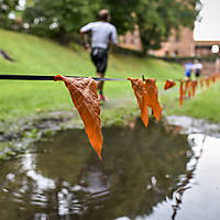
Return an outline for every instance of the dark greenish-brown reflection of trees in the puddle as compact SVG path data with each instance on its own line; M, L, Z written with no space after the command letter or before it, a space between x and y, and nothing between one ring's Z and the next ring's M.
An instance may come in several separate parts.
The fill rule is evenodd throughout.
M55 188L40 189L23 172L12 189L25 185L20 193L25 201L23 213L31 219L134 219L150 215L172 196L169 188L186 173L189 148L185 135L172 135L152 121L145 130L136 121L133 129L107 128L103 136L103 162L88 150L81 131L62 132L52 143L41 143L35 170L53 179Z

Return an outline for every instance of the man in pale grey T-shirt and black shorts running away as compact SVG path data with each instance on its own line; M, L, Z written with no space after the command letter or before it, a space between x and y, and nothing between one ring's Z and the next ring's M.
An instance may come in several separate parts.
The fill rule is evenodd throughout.
M91 33L91 61L94 62L98 77L105 77L108 48L110 44L118 44L117 29L110 24L110 13L107 9L99 11L99 21L90 22L80 29L84 47L90 51L87 34ZM103 96L103 81L98 82L99 99L106 101Z

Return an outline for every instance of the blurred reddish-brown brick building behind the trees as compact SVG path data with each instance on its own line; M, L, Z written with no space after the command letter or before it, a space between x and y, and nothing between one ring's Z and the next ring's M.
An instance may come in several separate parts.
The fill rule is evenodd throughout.
M120 46L124 48L141 51L142 44L139 33L139 26L134 28L134 32L128 32L120 36ZM213 54L211 52L212 45L219 45L220 41L194 41L194 31L188 28L182 28L178 33L173 32L167 42L162 43L162 48L157 51L150 51L152 55L156 56L209 56L220 55L220 52Z

